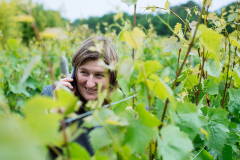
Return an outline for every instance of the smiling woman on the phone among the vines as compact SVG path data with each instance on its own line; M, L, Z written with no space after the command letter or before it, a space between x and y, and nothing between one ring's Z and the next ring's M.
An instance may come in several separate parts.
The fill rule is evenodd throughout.
M96 48L92 50L91 48ZM97 49L98 48L98 49ZM102 53L99 50L101 48ZM102 58L101 58L102 57ZM95 36L85 40L78 50L75 52L72 58L72 66L75 66L76 70L74 78L61 79L56 87L59 89L60 84L70 88L74 94L79 97L83 102L83 107L77 112L77 114L85 113L84 105L89 100L97 99L98 85L102 84L102 91L106 89L106 79L109 82L109 90L113 92L117 87L117 71L108 70L107 77L105 77L105 70L99 64L102 59L106 65L111 62L118 62L118 54L114 49L112 42L106 37ZM53 87L49 85L42 91L42 95L53 96ZM79 120L79 127L83 121ZM76 141L85 147L88 152L93 155L93 150L89 142L88 133L82 134L76 139Z

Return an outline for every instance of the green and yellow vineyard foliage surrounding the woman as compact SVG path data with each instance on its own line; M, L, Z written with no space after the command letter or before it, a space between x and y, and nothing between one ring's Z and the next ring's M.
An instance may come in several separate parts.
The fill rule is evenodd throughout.
M204 1L201 10L180 8L187 20L180 20L168 1L165 7L146 6L146 11L167 12L166 16L172 14L181 21L168 21L157 14L159 23L172 31L168 37L158 37L159 28L151 21L146 29L132 27L121 13L113 22L119 27L118 35L112 24L104 24L104 33L99 26L94 33L84 24L78 28L67 24L68 38L46 37L45 48L40 48L41 41L30 40L27 47L19 38L6 39L7 30L3 30L1 159L48 159L48 148L57 159L240 159L240 42L236 26L240 17L236 4L238 8L223 9L221 15L207 12L211 0ZM50 14L59 17L55 12L42 12L42 6L31 9L49 13L49 18ZM34 14L22 12L27 17L20 17L18 23L29 27L39 23ZM199 17L197 22L193 14ZM51 27L59 25L60 19ZM44 23L39 25L40 31L47 27ZM226 29L229 26L234 30L231 34ZM55 80L60 79L60 57L66 56L70 62L79 44L92 35L108 36L115 43L121 60L117 66L105 67L118 71L120 89L111 96L99 92L98 100L88 103L93 110L81 127L78 121L66 127L66 118L77 118L80 100L65 89L56 91L54 98L38 94L51 84L49 69ZM46 65L49 62L52 68ZM132 95L135 97L123 100ZM101 107L106 96L112 102L109 108ZM90 129L93 156L75 142L86 128Z

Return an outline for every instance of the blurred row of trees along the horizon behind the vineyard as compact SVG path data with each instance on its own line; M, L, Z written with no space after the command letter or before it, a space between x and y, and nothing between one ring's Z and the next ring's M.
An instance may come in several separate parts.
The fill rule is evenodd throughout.
M27 14L26 12L26 3L31 6L33 17L35 18L36 24L40 32L49 27L61 27L66 28L66 24L69 24L73 28L79 28L81 25L85 25L85 28L92 30L91 32L97 32L99 29L101 33L106 33L106 24L114 24L115 21L122 23L121 19L114 20L115 13L109 13L102 17L89 17L88 19L76 19L74 22L70 23L70 20L61 17L59 11L46 10L42 4L32 3L31 1L22 2L19 0L1 0L0 1L0 30L4 36L9 38L20 38L21 41L29 45L30 40L35 36L34 31L30 23L27 22L18 22L16 16ZM187 11L186 8L193 9L195 6L198 6L193 1L189 1L186 4L180 6L173 6L171 10L175 12L182 19L188 19L186 17ZM230 6L236 6L235 3L229 4L226 6L226 11L230 10ZM198 6L199 7L199 6ZM200 7L199 7L200 8ZM148 13L147 13L148 12ZM217 12L221 14L221 10ZM166 22L169 22L169 25L173 28L176 23L181 23L181 21L172 14L163 14L159 13L161 18ZM123 18L133 21L133 15L123 13ZM193 14L191 21L197 21L197 16ZM137 14L137 25L140 25L146 29L149 29L149 23L152 23L157 35L171 35L172 32L158 19L155 14L149 14L149 11L143 11L143 14ZM116 30L118 34L120 28L113 26L112 29ZM228 27L228 32L231 33L232 28Z

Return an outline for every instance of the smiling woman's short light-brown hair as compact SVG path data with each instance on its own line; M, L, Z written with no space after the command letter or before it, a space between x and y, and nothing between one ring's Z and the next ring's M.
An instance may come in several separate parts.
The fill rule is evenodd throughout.
M76 67L76 71L78 68L83 64L84 61L88 59L98 60L101 58L101 53L98 51L90 50L90 47L96 47L96 44L102 44L102 52L103 52L103 61L109 65L111 62L118 62L118 54L114 48L113 43L110 39L103 36L94 36L86 39L77 49L77 51L74 53L72 58L72 66ZM76 77L75 72L75 77ZM110 73L110 92L113 91L114 88L118 86L117 83L117 71L109 71Z

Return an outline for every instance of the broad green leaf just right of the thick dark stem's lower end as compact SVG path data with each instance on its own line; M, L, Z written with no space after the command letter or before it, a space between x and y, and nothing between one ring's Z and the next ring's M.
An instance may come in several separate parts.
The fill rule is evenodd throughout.
M176 114L173 114L174 122L180 129L194 139L200 128L207 124L205 117L199 115L198 108L192 103L177 102Z

